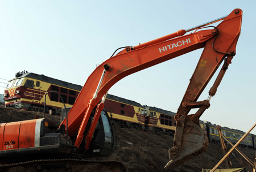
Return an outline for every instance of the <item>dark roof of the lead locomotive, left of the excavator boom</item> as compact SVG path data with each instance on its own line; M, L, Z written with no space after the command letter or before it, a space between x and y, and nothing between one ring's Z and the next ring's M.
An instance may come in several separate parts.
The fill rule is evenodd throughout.
M44 81L44 82L51 83L51 84L55 84L55 85L60 85L61 87L75 89L77 91L81 91L81 89L82 89L81 85L76 85L76 84L68 83L68 82L65 82L65 81L62 81L62 80L58 80L58 79L54 79L54 78L48 77L46 75L34 74L34 73L31 73L31 72L20 74L18 77L14 78L14 79L24 78L24 77L32 78L32 79L37 79L37 80ZM14 79L11 79L11 80L14 80Z

